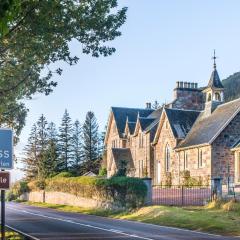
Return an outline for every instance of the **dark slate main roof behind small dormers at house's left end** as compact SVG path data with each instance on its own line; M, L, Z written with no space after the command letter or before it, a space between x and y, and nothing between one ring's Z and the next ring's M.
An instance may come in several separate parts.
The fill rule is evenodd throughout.
M153 111L153 109L144 108L112 107L119 135L124 133L127 118L129 122L136 122L138 115L139 117L147 117Z

